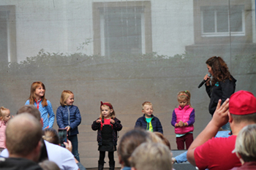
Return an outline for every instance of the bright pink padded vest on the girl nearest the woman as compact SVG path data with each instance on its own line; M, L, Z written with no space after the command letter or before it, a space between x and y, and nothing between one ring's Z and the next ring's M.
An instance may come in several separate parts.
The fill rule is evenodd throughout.
M184 123L187 123L192 111L193 108L189 107L189 105L185 106L183 109L181 107L174 109L174 112L176 113L176 123L178 123L180 120ZM175 134L187 134L190 131L194 131L193 124L175 128Z

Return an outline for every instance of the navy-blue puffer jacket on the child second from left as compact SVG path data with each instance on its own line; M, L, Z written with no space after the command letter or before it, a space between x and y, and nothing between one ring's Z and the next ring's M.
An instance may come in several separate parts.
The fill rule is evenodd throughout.
M69 136L79 134L78 125L81 123L81 115L78 107L72 106L60 106L56 112L56 119L59 128L66 128L70 126Z

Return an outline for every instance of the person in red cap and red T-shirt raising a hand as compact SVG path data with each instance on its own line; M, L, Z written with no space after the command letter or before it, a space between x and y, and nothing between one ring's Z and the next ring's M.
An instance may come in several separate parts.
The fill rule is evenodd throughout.
M189 163L198 169L232 169L241 162L232 151L235 149L236 136L246 125L256 123L256 98L249 91L240 90L217 109L206 128L192 142L187 152ZM230 123L233 135L228 138L213 138L219 128Z

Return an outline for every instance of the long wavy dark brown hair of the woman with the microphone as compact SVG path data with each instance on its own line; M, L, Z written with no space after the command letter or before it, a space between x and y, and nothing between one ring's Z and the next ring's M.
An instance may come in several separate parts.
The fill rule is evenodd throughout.
M206 61L208 66L211 66L211 70L214 73L211 80L211 85L215 85L216 82L225 82L225 80L232 80L230 72L228 71L227 64L221 57L211 57Z

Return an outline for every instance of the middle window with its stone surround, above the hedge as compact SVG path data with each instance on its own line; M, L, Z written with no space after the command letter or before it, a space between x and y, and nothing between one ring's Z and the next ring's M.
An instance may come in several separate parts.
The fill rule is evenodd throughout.
M151 53L150 1L95 2L94 54Z

